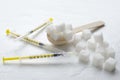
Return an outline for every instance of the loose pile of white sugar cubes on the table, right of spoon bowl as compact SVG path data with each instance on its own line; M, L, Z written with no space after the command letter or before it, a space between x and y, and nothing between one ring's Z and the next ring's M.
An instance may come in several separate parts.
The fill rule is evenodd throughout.
M88 63L106 71L114 71L116 67L115 51L103 39L102 33L92 35L90 30L84 30L73 37L73 45L79 56L79 61ZM92 53L93 54L92 54ZM92 60L90 59L92 54Z

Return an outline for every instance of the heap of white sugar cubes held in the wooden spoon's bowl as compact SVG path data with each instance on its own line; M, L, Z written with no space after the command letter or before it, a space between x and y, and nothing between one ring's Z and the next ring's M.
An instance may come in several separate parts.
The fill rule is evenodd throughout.
M66 41L70 41L73 37L72 25L65 23L47 27L47 33L55 41L59 40L60 38L64 38Z

